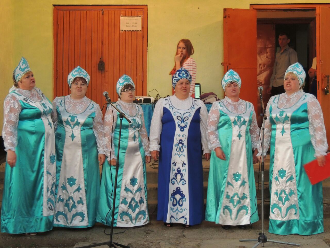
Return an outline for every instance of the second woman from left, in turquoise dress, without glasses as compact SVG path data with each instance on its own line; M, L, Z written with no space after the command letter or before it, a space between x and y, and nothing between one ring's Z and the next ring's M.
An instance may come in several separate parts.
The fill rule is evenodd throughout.
M68 75L71 94L56 97L55 227L92 227L100 189L99 165L105 161L100 106L86 95L90 77L77 66Z

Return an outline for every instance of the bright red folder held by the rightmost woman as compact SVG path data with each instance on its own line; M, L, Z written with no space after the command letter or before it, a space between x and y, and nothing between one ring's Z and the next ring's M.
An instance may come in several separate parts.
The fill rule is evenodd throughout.
M323 167L318 165L316 159L305 164L304 167L312 185L327 179L330 177L330 153L325 156L325 165Z

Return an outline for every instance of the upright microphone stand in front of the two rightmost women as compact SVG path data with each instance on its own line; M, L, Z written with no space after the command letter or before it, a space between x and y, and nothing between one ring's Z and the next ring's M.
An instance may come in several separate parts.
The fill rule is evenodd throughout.
M267 243L267 242L300 246L300 244L267 239L267 236L265 235L265 231L264 231L264 182L265 182L265 179L264 179L264 171L265 171L265 167L264 167L264 134L265 134L265 120L267 120L267 116L266 116L266 109L264 106L264 102L262 101L262 94L260 94L260 93L259 93L259 98L260 98L261 110L262 110L260 115L263 117L262 141L261 141L261 232L259 232L258 239L240 239L240 242L257 241L257 243L254 246L252 246L252 248L257 247L260 244L262 247L264 247L264 243Z

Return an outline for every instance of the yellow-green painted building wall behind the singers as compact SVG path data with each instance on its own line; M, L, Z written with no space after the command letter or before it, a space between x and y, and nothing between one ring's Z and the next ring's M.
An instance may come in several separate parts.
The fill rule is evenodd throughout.
M328 0L319 1L326 3ZM313 3L290 0L290 3ZM190 39L197 62L196 82L203 92L223 97L223 8L248 9L250 4L288 3L287 0L2 0L0 17L0 103L12 86L11 73L21 56L27 58L37 86L52 100L53 6L52 5L148 5L148 91L171 93L168 75L174 65L178 41ZM152 94L152 96L154 96ZM0 108L0 121L3 110Z

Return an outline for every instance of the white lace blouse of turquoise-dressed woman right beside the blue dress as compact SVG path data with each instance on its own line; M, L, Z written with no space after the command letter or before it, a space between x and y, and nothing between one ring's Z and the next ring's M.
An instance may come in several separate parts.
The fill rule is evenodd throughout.
M220 100L226 108L234 114L243 114L246 111L246 101L240 99L238 102L233 102L228 97L225 97L223 100ZM219 101L214 102L209 112L208 121L207 121L207 139L209 141L209 148L214 150L216 147L221 147L218 135L218 123L220 116L220 106ZM251 104L252 105L252 104ZM254 107L252 105L252 122L250 125L250 135L252 149L258 148L258 151L261 151L261 143L259 138L259 127L257 124L257 118L255 115Z

